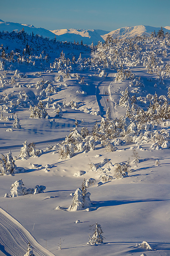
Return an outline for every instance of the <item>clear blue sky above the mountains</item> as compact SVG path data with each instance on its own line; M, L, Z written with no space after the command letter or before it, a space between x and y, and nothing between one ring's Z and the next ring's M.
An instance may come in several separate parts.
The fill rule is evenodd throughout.
M2 0L0 19L48 30L170 26L170 0Z

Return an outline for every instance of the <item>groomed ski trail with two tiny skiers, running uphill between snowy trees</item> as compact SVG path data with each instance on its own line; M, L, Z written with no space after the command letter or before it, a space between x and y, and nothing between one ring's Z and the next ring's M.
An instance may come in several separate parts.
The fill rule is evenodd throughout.
M110 91L110 85L114 81L115 73L108 73L106 78L103 79L96 89L96 100L99 106L100 115L103 117L106 114L106 110L109 107L112 119L115 119L117 108L116 104L112 100L112 94ZM105 94L105 92L107 94ZM108 99L108 102L107 102Z

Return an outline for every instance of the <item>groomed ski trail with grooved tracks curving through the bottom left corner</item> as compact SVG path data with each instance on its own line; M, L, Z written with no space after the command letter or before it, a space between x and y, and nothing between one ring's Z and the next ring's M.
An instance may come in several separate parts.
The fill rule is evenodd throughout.
M18 220L0 207L0 248L11 256L23 256L31 242L36 256L55 256L43 248Z

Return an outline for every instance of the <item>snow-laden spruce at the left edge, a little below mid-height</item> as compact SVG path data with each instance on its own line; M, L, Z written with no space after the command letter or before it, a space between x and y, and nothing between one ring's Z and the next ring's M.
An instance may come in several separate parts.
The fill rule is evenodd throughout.
M7 155L1 154L2 159L0 158L1 170L0 175L7 175L13 173L13 170L16 168L15 160L13 160L12 153L9 151Z

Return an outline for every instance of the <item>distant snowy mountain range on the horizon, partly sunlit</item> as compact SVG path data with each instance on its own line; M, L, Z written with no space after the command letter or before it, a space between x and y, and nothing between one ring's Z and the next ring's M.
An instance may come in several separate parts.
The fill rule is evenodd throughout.
M67 41L67 42L77 42L83 41L83 44L91 44L92 42L96 45L98 41L104 42L108 35L111 35L113 39L126 39L132 38L134 36L150 36L152 31L155 30L157 33L160 28L158 27L150 27L150 26L134 26L134 27L123 27L113 31L105 31L105 30L85 30L85 29L57 29L57 30L46 30L44 28L36 28L33 25L6 22L0 20L0 31L20 31L24 27L25 32L33 33L36 35L42 35L43 37L49 37L49 39L53 39L56 36L57 40ZM164 32L170 33L170 26L166 26L163 28Z

